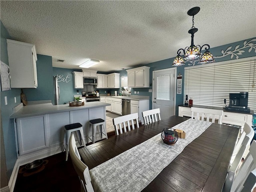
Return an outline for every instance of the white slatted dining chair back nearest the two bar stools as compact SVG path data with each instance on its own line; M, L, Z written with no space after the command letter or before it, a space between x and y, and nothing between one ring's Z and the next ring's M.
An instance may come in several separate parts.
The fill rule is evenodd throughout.
M132 130L135 129L134 126L134 120L136 121L136 126L139 128L139 121L138 121L138 113L128 114L120 117L113 118L113 125L115 127L116 135L119 135L118 130L120 131L120 134L123 134L122 126L124 128L124 132L127 132L126 124L128 131L131 130L130 123L132 125Z

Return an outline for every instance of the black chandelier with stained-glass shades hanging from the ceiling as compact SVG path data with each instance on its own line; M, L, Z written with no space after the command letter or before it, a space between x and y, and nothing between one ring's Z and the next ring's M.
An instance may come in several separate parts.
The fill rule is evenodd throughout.
M193 7L190 10L188 10L188 15L189 16L193 16L192 18L192 27L191 29L188 31L189 34L191 34L191 45L190 47L186 47L185 49L179 49L177 51L177 56L176 58L174 58L174 61L172 63L173 66L182 66L185 64L184 60L188 60L188 61L197 61L199 60L198 63L200 64L204 64L204 63L213 63L215 62L212 54L210 53L209 49L210 49L210 45L208 44L204 44L202 46L194 45L194 34L198 31L198 28L194 27L194 16L196 14L198 14L198 12L200 11L200 7ZM202 48L205 47L205 52L203 55L201 55L201 50ZM180 56L181 51L183 51L184 53L184 58L182 56Z

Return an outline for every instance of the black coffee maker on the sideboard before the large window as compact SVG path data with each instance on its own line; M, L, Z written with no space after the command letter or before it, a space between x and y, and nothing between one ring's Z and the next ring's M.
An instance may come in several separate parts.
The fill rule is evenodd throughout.
M230 93L229 106L226 106L226 110L250 113L250 108L248 108L248 92Z

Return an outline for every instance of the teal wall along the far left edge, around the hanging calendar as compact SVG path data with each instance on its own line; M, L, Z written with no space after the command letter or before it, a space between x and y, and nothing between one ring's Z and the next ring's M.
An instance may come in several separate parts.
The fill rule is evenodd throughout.
M7 43L6 39L12 39L8 34L6 28L0 22L1 28L1 43L0 43L0 60L5 64L9 65L8 62L8 53L7 53ZM5 105L4 97L7 96L8 104ZM14 103L14 97L16 97L17 103ZM12 88L11 90L2 91L1 90L1 121L4 136L4 148L5 148L5 157L6 157L6 172L8 180L12 174L14 164L17 160L16 155L16 144L15 144L15 134L14 134L14 122L13 119L10 119L12 114L12 108L14 108L18 103L20 103L20 89Z

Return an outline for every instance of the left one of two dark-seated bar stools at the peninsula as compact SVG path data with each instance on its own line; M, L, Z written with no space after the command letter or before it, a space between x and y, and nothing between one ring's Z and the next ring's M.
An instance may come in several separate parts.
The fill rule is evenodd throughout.
M83 126L80 123L73 123L69 125L65 125L65 133L64 133L64 148L66 149L66 161L68 160L68 143L70 139L70 135L74 131L79 131L80 132L80 144L82 146L82 140L83 144L85 146L85 140L84 140L84 131L83 131ZM82 140L81 140L82 139Z

